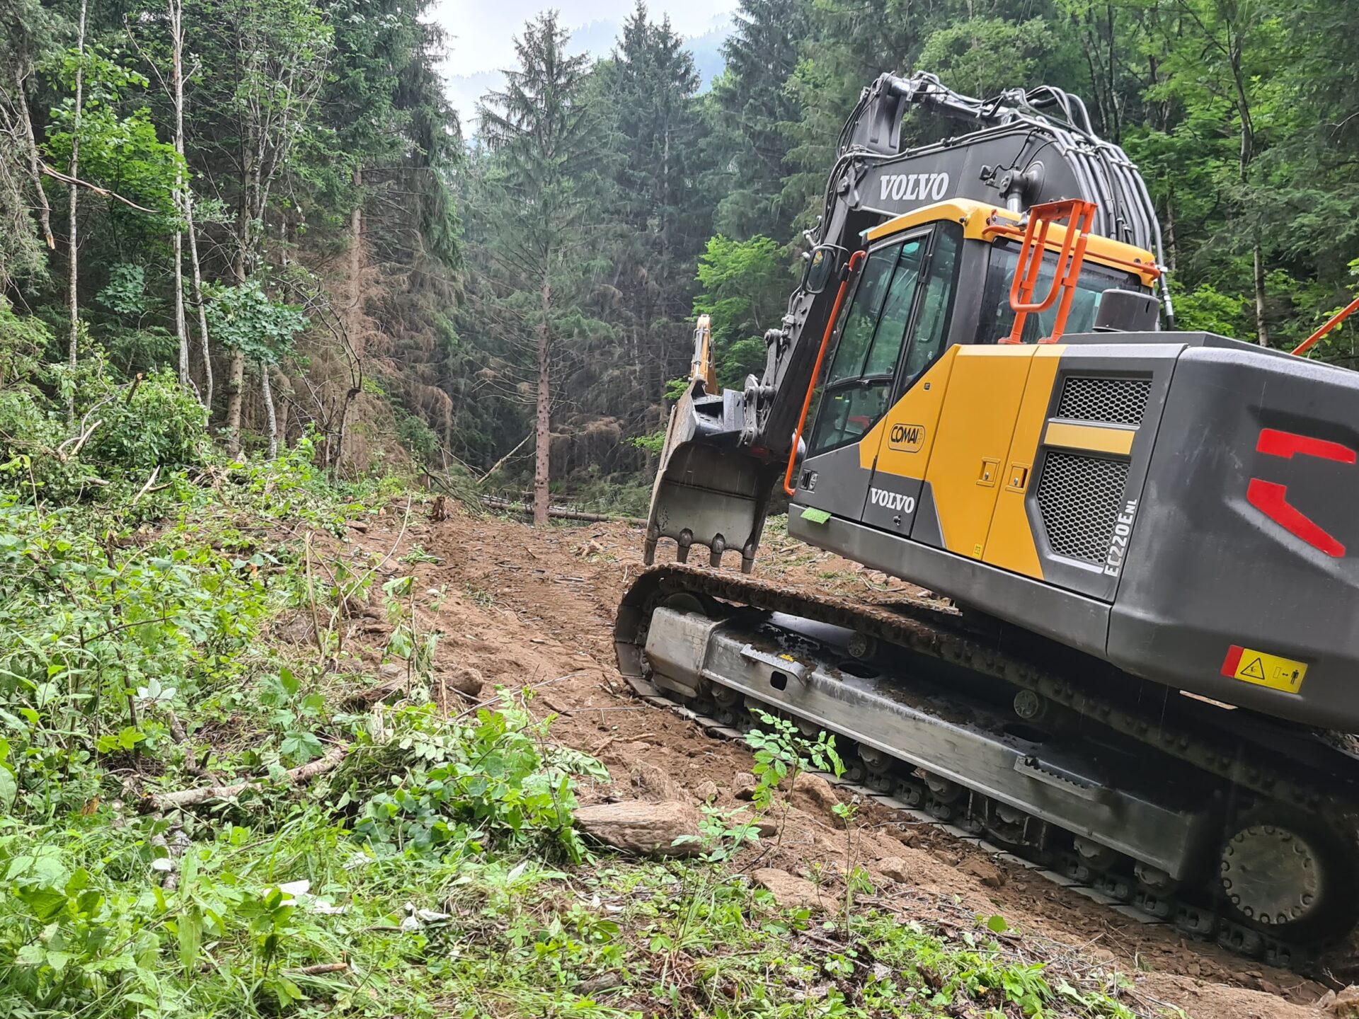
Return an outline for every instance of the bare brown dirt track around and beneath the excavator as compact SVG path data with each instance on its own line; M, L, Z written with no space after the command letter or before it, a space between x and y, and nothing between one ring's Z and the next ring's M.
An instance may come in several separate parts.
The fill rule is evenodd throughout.
M493 685L534 687L531 709L560 716L552 730L556 739L594 754L613 777L612 785L587 784L583 803L636 795L632 773L651 764L685 792L712 783L719 804L738 806L731 785L734 776L749 772L749 750L641 702L614 667L613 611L641 569L640 530L621 523L534 530L458 511L431 522L427 512L420 504L393 505L355 522L352 543L336 543L329 553L383 557L385 576L414 572L421 626L440 633L436 677L443 677L444 689L436 696L450 707L466 704L447 683L465 682L467 670L476 670L472 678L482 678L488 693ZM423 558L410 554L416 546L438 561L402 562ZM730 560L734 564L735 556ZM779 534L769 535L756 572L840 594L900 584ZM385 624L370 613L356 625L371 636ZM856 830L847 833L824 806L798 799L781 836L747 853L738 867L815 874L822 883L852 861L872 874L877 905L927 923L957 923L959 905L999 913L1021 931L1117 962L1137 974L1139 997L1178 1005L1195 1019L1326 1015L1313 1005L1326 990L1317 981L1242 961L1169 925L1125 918L938 829L902 823L874 803L862 806ZM886 876L883 861L896 879Z

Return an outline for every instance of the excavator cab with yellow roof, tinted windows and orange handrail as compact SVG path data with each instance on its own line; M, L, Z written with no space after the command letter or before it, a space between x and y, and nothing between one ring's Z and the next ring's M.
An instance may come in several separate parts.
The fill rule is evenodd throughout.
M881 516L872 512L878 504L866 505L874 474L868 465L881 442L874 436L864 446L864 437L908 393L913 404L942 397L946 376L924 376L953 346L1051 342L1064 330L1154 329L1152 255L1086 236L1083 257L1072 266L1070 253L1064 260L1065 234L1059 227L1042 245L1030 238L1034 250L1026 258L1018 216L965 200L939 202L866 231L867 257L855 279L847 280L844 311L828 337L828 367L813 379L813 425L799 433L800 469L790 473L798 482L787 486L787 495L837 516ZM1033 269L1030 289L1052 298L1034 312L1017 311L1011 298L1025 266ZM1070 293L1059 293L1063 269L1070 269ZM1108 304L1106 293L1114 295ZM934 428L924 418L896 421L893 429L890 450L928 458ZM901 511L909 516L906 507L919 495L912 489L879 496L892 510L887 519L898 520L894 529L901 530Z

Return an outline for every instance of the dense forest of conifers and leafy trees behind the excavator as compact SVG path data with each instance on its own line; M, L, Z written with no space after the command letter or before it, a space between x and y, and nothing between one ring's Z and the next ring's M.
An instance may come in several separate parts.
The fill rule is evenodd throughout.
M169 371L231 450L314 431L340 473L504 459L522 489L550 431L540 478L635 501L693 315L724 382L762 363L839 128L882 71L1083 95L1151 186L1181 326L1290 346L1354 285L1344 0L743 0L701 94L644 5L597 61L549 12L462 125L429 18L4 0L4 385L20 356L33 383L0 420L11 455L68 437L94 375ZM1317 356L1348 363L1348 334Z

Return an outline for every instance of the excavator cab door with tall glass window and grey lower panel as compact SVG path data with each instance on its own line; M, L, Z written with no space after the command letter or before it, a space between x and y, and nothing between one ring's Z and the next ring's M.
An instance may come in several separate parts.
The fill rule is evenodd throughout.
M874 425L896 391L932 236L927 227L893 239L870 251L859 273L818 387L815 425L799 471L802 505L851 520L863 515L877 452Z

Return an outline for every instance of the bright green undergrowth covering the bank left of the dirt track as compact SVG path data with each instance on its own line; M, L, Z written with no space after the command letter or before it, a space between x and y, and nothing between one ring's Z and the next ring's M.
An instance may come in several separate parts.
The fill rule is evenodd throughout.
M739 872L573 826L607 781L529 711L431 696L419 546L345 541L400 481L302 442L231 462L170 378L0 382L0 1015L1127 1015L999 917L925 927L848 894L780 909ZM67 399L73 401L68 410ZM381 648L344 621L386 617ZM378 664L374 664L378 663ZM381 667L391 696L355 697ZM771 720L773 721L773 720ZM754 739L762 795L833 745ZM847 825L852 818L845 815ZM756 846L758 849L758 846Z

